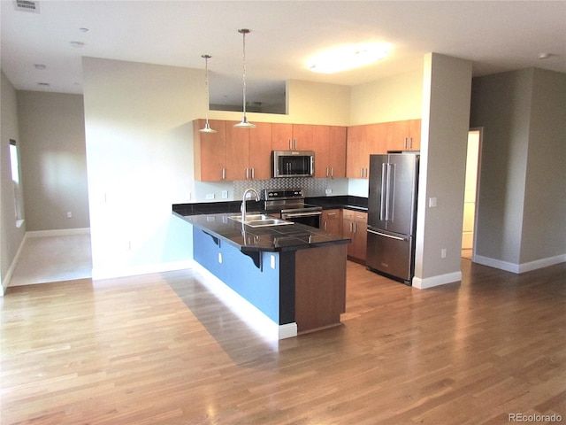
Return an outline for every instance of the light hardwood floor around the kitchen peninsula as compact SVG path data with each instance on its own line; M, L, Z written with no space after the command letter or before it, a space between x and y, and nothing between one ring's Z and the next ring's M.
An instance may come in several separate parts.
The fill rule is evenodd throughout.
M9 288L0 423L566 421L566 264L516 275L463 259L462 283L417 290L348 262L343 326L279 344L200 279Z

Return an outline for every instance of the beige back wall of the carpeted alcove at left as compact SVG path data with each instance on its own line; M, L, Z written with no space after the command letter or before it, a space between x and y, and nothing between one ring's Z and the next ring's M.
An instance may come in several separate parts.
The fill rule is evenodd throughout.
M27 231L88 228L82 96L19 91L18 114Z

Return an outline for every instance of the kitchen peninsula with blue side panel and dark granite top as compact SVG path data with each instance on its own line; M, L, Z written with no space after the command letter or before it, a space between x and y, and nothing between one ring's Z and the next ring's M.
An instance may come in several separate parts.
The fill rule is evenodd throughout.
M350 239L299 223L252 227L234 213L183 215L194 259L279 326L279 339L340 324Z

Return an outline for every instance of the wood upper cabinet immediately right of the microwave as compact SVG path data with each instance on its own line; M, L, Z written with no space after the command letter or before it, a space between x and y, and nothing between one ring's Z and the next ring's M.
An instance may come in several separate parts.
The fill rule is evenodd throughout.
M346 128L312 127L315 177L321 179L346 177Z

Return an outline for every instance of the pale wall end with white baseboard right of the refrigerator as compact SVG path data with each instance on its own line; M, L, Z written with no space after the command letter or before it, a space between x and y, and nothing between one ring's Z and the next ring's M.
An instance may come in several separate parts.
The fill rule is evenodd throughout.
M462 279L464 174L470 120L471 62L424 58L421 166L417 205L417 288ZM428 207L435 197L437 206ZM441 258L441 250L446 258Z

